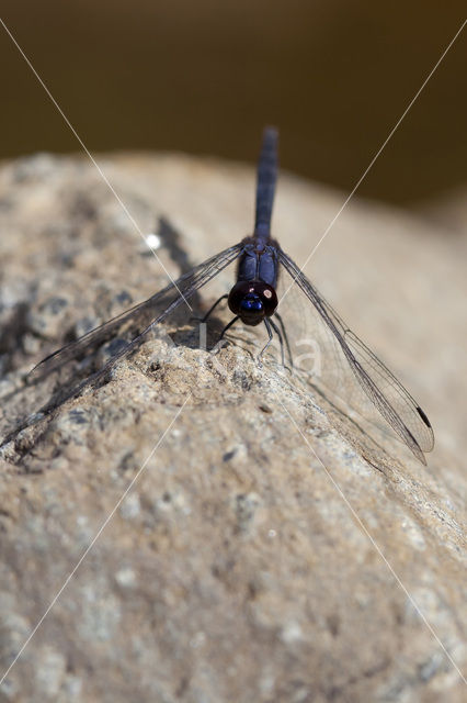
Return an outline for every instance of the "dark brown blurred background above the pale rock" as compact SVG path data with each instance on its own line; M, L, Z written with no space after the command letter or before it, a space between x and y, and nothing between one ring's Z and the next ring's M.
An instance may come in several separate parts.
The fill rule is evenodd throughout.
M3 0L2 19L87 146L282 165L350 190L466 15L453 0ZM360 188L413 204L465 182L467 30ZM79 148L0 27L0 157Z

